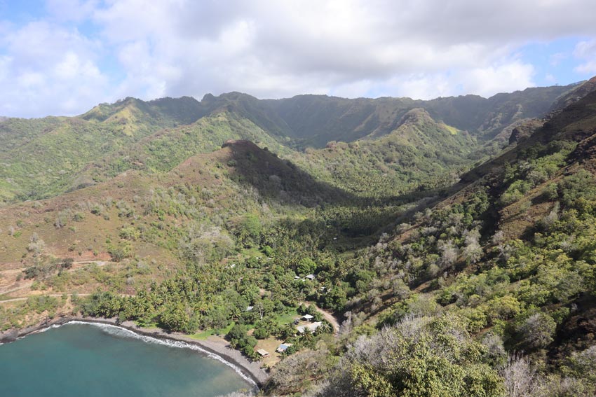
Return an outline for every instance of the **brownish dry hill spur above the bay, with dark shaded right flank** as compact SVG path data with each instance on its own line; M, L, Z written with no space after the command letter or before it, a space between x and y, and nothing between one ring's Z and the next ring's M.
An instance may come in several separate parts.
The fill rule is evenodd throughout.
M271 222L282 214L349 199L250 141L228 141L163 174L133 170L49 200L0 209L6 237L0 244L0 272L11 274L0 277L0 295L32 293L31 282L11 272L23 268L39 273L33 293L40 286L55 293L86 293L108 284L118 293L134 293L148 280L184 268L182 242L199 230L228 253L236 222L246 214L268 214ZM208 260L209 252L196 255ZM81 267L76 278L57 274L55 264L65 258L113 262L104 274L112 281L94 278L95 267ZM142 270L131 270L130 263L142 263Z

